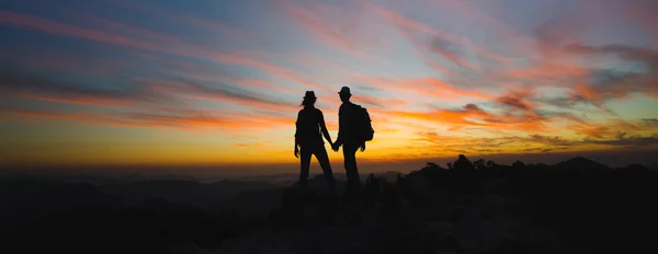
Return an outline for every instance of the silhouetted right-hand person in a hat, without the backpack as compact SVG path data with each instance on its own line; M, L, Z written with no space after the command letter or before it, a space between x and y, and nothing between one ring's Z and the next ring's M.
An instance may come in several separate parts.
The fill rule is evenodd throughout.
M343 147L343 159L348 176L348 197L353 197L361 190L361 180L356 168L356 150L361 148L361 151L364 151L365 141L356 138L355 113L359 105L350 102L352 97L350 88L343 86L338 94L342 104L338 111L338 138L331 148L333 151L338 151L340 146Z

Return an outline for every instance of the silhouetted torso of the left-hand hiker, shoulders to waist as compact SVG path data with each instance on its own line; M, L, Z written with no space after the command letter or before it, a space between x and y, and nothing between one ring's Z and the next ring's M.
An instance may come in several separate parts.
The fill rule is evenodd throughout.
M315 107L304 107L297 115L296 138L300 145L325 143L320 132L322 112Z

